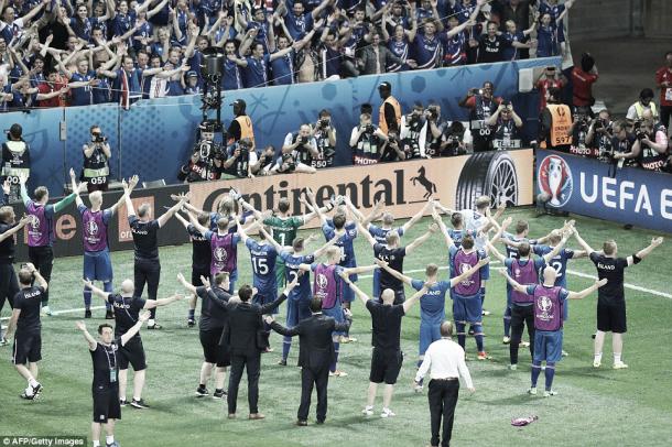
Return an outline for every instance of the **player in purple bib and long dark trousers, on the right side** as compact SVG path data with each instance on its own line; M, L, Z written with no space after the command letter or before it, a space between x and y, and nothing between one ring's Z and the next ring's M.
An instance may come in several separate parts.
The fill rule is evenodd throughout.
M490 249L490 253L505 264L509 274L519 284L539 284L540 272L543 272L543 269L549 264L551 259L560 253L572 233L572 228L571 226L567 228L565 236L552 251L540 258L532 258L532 249L529 242L520 243L518 247L518 258L505 257L490 242L487 243L487 247ZM535 308L534 301L530 295L513 288L507 292L507 295L510 292L510 296L507 296L507 304L511 303L511 342L509 344L509 358L511 362L509 369L516 370L518 369L518 349L525 325L528 326L528 335L530 337L530 356L534 358Z

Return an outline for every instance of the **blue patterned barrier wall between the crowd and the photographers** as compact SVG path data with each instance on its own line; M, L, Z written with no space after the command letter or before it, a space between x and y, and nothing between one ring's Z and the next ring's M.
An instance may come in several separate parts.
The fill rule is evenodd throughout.
M513 101L525 123L523 133L531 140L536 138L539 96L535 90L519 92L519 72L559 64L557 57L540 58L226 91L223 120L228 124L232 118L228 105L243 99L254 124L257 146L273 144L279 150L286 133L299 130L303 122L315 122L319 110L328 109L337 131L335 164L343 166L350 164L348 140L359 122L359 107L371 103L373 122L378 122L381 81L392 84L392 94L407 112L415 101L425 106L433 101L441 106L444 119L466 121L467 110L457 102L469 88L491 80L497 96ZM164 178L167 184L175 184L180 165L188 159L196 139L200 107L199 96L180 96L142 100L130 110L110 103L2 113L2 123L3 129L20 123L31 144L33 170L29 187L43 185L59 195L68 182L68 170L82 168L82 145L90 140L91 124L99 124L108 137L112 177L138 174L143 182Z

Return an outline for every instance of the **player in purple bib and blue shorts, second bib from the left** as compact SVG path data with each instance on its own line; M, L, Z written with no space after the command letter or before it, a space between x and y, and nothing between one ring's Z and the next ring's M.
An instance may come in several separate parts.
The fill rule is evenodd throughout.
M110 219L117 212L117 208L126 203L127 194L131 194L138 184L138 177L132 177L129 181L128 188L124 189L119 200L107 209L102 207L102 193L95 190L88 195L91 204L90 208L84 205L84 200L79 197L79 187L75 178L72 179L72 190L75 192L75 203L77 210L82 215L82 238L84 240L84 272L83 280L101 281L102 290L107 293L112 292L112 261L110 260L110 251L107 241L107 227ZM84 318L91 317L91 291L84 287ZM106 304L106 319L115 318L112 306Z

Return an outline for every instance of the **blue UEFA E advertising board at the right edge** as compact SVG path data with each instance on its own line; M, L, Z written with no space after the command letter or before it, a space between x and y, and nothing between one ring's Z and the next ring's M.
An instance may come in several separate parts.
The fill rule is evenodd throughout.
M554 151L536 151L536 192L548 206L578 215L672 232L672 176L610 165Z

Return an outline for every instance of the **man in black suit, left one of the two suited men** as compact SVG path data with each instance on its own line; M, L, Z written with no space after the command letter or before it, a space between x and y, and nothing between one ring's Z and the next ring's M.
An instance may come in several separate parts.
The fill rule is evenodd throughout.
M223 345L229 347L231 358L231 374L229 375L228 391L229 419L236 417L238 385L242 378L242 370L246 367L248 371L248 402L250 404L249 418L263 419L265 417L259 413L257 406L259 401L261 351L268 346L268 342L260 340L265 334L261 315L272 312L277 306L282 304L296 284L297 280L288 284L278 299L264 306L251 302L254 291L246 284L238 290L238 298L232 297L227 303L226 309L229 315L229 324L221 337ZM209 284L204 283L204 285L209 288Z

